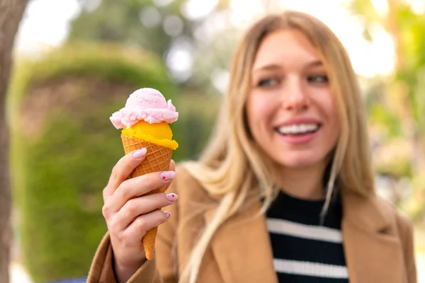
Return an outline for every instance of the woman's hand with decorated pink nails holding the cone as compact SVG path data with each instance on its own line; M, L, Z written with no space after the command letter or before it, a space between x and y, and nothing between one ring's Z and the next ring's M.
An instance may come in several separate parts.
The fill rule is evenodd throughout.
M170 163L170 171L128 179L145 155L146 149L140 149L123 156L114 166L108 185L103 190L102 213L111 236L115 276L120 283L128 281L145 262L143 236L169 219L169 212L161 209L177 199L176 194L143 196L171 183L175 175L174 161Z

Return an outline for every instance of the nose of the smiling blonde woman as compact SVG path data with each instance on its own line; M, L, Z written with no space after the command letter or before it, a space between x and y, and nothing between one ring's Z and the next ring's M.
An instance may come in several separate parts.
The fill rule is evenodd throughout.
M310 98L302 87L302 82L297 77L290 77L285 83L283 94L283 108L292 111L307 110Z

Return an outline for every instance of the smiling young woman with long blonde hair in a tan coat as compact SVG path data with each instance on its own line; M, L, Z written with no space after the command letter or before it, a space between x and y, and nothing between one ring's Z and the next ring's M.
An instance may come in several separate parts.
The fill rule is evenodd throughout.
M412 225L375 194L356 75L312 16L246 32L199 161L127 180L144 154L113 168L88 282L416 282Z

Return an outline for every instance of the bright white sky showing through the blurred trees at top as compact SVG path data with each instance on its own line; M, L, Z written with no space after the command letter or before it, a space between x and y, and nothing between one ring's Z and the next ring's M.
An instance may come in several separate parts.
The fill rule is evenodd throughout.
M170 0L154 0L155 4L167 4ZM421 2L422 0L414 0ZM214 4L217 0L208 0ZM253 16L262 13L261 3L273 3L276 8L290 8L311 13L334 30L348 50L356 72L362 76L386 74L394 64L394 47L391 38L383 30L375 30L373 45L365 42L358 23L341 6L346 0L232 0L233 22L244 28ZM376 7L385 11L386 0L373 0ZM418 4L419 5L419 4ZM196 18L208 13L205 0L189 0L186 16ZM16 51L38 54L40 50L60 46L67 37L69 21L80 11L77 0L33 0L28 4L26 15L16 38Z

